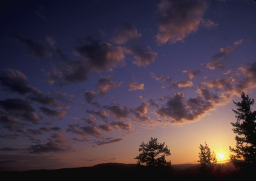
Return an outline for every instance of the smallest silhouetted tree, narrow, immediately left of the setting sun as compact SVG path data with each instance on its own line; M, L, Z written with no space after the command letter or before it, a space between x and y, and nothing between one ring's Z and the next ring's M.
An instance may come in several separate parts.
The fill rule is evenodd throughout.
M217 164L216 156L214 151L211 152L209 145L206 144L203 146L200 144L200 153L199 153L199 165L201 166L200 169L204 173L211 173L214 170L215 165Z

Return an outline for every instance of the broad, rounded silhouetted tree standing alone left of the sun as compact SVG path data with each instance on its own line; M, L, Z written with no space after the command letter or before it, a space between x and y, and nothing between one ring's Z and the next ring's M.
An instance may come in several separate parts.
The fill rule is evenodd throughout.
M165 142L163 144L157 142L157 138L150 138L147 144L142 142L139 147L141 152L139 156L134 157L137 159L137 164L145 163L147 166L169 166L171 167L171 161L166 162L165 156L171 155L170 150L167 145L165 147Z

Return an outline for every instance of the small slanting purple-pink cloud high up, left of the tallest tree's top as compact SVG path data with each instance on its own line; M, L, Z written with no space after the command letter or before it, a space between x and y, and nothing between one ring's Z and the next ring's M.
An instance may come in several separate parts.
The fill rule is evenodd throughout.
M209 69L223 69L226 66L226 63L221 60L224 59L231 51L234 50L233 46L225 46L220 48L220 52L212 56L212 60L208 63L202 63L202 66L205 66Z

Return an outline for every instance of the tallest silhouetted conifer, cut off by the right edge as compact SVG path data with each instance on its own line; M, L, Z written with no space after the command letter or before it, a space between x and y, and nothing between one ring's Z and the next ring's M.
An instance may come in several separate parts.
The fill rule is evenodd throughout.
M242 101L235 103L237 110L232 109L235 113L236 122L231 122L234 127L233 132L237 134L235 148L229 147L234 153L230 155L232 163L235 167L251 167L256 165L256 111L252 112L251 106L254 105L254 99L241 93ZM241 162L240 159L244 161Z

